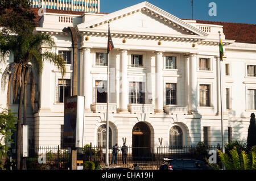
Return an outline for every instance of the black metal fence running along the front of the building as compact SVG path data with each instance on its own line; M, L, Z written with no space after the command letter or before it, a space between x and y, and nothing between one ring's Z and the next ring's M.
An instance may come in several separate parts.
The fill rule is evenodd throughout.
M127 155L122 154L121 146L118 147L118 153L115 160L112 149L109 149L109 165L124 166L133 169L135 163L142 170L159 169L163 163L163 158L193 158L205 161L209 158L209 151L220 147L213 146L181 146L175 148L172 146L160 146L157 148L134 148L127 146ZM68 170L71 168L71 149L61 149L60 146L55 147L38 147L31 148L26 158L26 166L28 170ZM113 158L114 157L114 158ZM95 169L105 166L106 149L86 145L82 149L77 149L77 161L93 162ZM113 160L113 162L112 162ZM6 167L10 169L10 167ZM14 169L14 167L13 167Z

